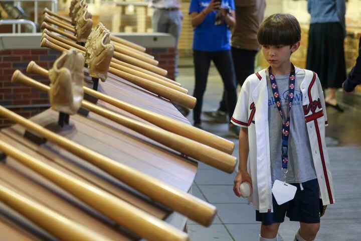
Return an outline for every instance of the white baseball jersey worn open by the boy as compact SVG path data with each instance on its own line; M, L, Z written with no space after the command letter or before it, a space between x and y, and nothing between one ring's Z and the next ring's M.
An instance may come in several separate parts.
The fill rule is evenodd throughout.
M298 71L300 69L295 67L296 78ZM273 210L266 74L268 70L263 69L246 79L231 118L233 124L248 128L248 173L253 187L248 202L260 212ZM318 76L310 70L305 70L305 74L300 84L303 111L320 198L323 205L327 205L334 203L335 199L325 142L326 107Z

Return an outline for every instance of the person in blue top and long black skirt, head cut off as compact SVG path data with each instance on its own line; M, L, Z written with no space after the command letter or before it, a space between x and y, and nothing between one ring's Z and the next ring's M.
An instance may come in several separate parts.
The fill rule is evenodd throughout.
M326 106L343 112L337 104L336 89L346 78L343 49L345 37L345 0L308 0L311 15L306 69L318 74L327 88Z

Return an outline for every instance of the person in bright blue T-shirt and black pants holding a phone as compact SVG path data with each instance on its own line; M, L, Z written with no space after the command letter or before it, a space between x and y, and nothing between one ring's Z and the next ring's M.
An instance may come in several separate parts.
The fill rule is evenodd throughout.
M233 0L192 0L190 4L189 14L195 28L192 48L196 83L193 96L197 98L193 119L194 126L198 128L202 128L203 95L211 61L222 77L230 118L236 106L236 77L230 51L229 30L235 25L234 9ZM229 125L230 133L238 138L238 127Z

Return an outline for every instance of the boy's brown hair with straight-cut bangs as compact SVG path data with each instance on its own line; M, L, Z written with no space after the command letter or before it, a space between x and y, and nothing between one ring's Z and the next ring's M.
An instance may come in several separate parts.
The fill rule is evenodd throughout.
M260 45L289 45L301 40L301 27L291 14L274 14L261 24L257 33Z

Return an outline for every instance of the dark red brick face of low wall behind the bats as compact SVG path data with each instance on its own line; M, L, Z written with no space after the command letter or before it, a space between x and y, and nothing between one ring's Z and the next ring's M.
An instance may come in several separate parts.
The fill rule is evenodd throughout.
M168 78L174 79L174 48L149 48L147 53L159 61L159 67L168 71ZM48 94L23 84L11 82L15 70L19 69L29 77L49 85L49 80L39 75L27 74L31 60L43 68L50 69L60 52L46 48L0 50L0 105L24 116L31 117L49 108ZM0 116L0 128L13 123Z

